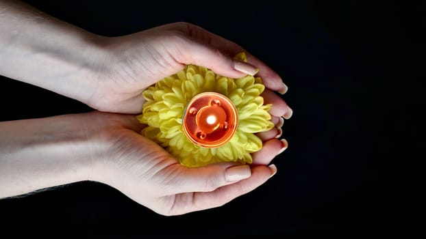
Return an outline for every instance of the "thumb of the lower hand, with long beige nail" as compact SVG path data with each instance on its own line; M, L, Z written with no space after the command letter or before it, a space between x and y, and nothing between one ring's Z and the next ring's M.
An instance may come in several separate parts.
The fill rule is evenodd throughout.
M210 192L216 188L250 178L249 165L219 163L198 168L182 166L179 193Z

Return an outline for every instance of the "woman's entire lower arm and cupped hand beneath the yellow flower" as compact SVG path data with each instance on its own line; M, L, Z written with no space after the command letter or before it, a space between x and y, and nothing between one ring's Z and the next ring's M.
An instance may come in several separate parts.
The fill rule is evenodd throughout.
M134 115L80 113L0 122L0 197L93 180L108 184L164 215L221 206L264 184L276 143L253 155L253 165L180 165L140 135ZM266 139L266 138L265 138Z

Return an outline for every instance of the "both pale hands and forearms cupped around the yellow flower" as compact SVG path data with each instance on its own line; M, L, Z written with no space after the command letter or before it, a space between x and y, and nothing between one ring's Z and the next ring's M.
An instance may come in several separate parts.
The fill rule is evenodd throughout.
M231 56L245 51L247 64ZM186 64L238 78L262 77L277 127L259 133L252 165L187 168L139 132L141 92ZM292 110L279 75L248 51L190 23L129 36L97 36L18 1L0 2L0 74L74 98L96 111L0 122L0 197L92 180L163 215L223 205L264 184ZM268 166L269 165L269 166Z

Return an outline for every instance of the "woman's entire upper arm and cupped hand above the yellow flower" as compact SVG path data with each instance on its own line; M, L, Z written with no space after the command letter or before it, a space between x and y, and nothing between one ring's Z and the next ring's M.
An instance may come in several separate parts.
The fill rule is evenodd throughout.
M232 60L247 54L247 64ZM171 23L105 37L55 19L18 1L0 2L0 74L74 98L99 111L140 113L142 91L186 64L223 76L262 77L270 113L292 110L275 92L286 85L238 44L190 23Z

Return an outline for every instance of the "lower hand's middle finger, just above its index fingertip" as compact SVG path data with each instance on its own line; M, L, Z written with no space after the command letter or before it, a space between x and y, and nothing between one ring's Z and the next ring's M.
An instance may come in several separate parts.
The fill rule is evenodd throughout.
M268 165L273 158L288 147L286 139L271 139L263 143L262 149L251 154L254 165Z

